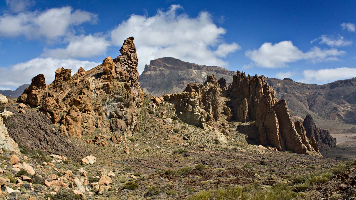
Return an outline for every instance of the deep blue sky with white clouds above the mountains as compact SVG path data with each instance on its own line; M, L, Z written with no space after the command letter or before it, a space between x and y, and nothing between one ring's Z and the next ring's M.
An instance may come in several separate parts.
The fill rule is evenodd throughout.
M356 77L356 1L0 1L0 90L90 69L135 37L151 59L324 84Z

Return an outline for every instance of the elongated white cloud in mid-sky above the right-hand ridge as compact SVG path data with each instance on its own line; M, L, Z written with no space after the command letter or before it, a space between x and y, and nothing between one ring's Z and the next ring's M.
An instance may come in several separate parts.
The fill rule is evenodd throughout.
M300 51L291 41L282 41L272 44L265 42L258 49L247 50L245 55L253 62L265 68L285 67L287 63L298 60L309 60L313 63L330 60L339 60L338 56L345 54L345 51L337 49L320 49L313 47L308 52Z

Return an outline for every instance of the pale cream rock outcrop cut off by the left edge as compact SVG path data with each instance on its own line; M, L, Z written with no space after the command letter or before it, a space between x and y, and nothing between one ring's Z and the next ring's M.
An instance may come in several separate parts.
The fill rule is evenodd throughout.
M20 153L18 145L9 136L4 122L12 116L12 112L6 111L7 98L0 94L0 149Z

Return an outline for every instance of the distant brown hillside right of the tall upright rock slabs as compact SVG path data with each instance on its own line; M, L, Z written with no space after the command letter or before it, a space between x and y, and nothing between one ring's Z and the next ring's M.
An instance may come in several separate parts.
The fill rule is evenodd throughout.
M356 123L356 78L324 85L297 83L291 79L267 79L278 98L286 99L294 116L312 114L325 119Z

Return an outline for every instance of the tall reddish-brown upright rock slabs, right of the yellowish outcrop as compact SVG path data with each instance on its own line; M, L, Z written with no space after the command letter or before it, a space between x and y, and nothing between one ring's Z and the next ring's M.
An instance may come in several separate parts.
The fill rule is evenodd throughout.
M237 71L227 91L231 99L228 105L232 119L241 122L255 120L262 145L302 154L317 151L309 144L302 127L298 127L300 132L296 130L286 101L278 101L266 77L255 75L251 78Z

